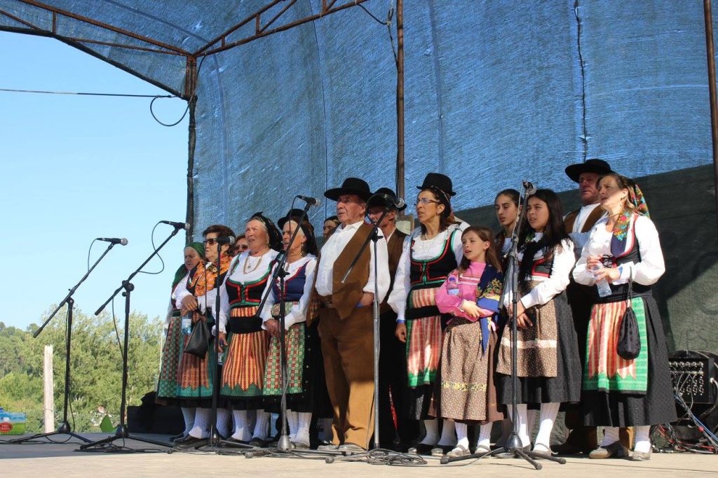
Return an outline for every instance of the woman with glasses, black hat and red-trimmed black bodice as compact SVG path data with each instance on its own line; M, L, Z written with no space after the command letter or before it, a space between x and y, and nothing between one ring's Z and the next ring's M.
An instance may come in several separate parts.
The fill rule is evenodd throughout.
M452 181L429 173L419 188L416 216L421 225L404 241L388 304L396 312L396 337L406 343L410 418L424 421L426 435L416 446L420 454L444 454L457 444L454 421L439 423L429 410L442 355L442 330L452 317L442 315L435 296L463 257L461 234L469 225L454 219ZM437 447L438 445L438 447Z

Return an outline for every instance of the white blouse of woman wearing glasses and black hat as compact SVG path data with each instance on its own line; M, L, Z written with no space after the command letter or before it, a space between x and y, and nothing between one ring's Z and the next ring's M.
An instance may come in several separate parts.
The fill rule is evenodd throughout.
M411 290L411 257L414 259L426 260L437 257L444 249L444 242L448 239L449 235L457 229L464 231L469 224L462 222L460 224L452 224L445 231L439 232L432 239L421 239L421 227L417 227L414 231L404 238L404 249L401 252L401 258L396 266L396 274L394 275L394 287L389 294L387 303L396 312L396 320L405 320L404 312L406 311L406 299L409 297L409 290ZM411 241L414 241L414 246L411 247ZM461 232L454 234L452 243L449 244L452 251L454 251L454 257L456 257L456 263L461 262L464 257L464 246L461 243ZM411 251L409 250L411 249ZM413 251L413 254L412 254Z

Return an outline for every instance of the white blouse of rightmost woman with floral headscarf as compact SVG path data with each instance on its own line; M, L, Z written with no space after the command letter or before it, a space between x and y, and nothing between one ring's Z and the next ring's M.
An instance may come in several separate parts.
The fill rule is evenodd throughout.
M591 236L584 246L581 258L574 269L574 280L579 284L596 284L593 273L586 267L589 256L612 255L611 238L613 237L613 231L606 230L607 222L608 218L602 218L591 229ZM635 227L640 262L623 264L620 277L611 283L615 285L625 284L628 282L629 277L633 277L633 280L640 285L653 285L658 282L663 272L666 272L666 264L663 262L663 252L661 251L661 242L658 240L656 225L645 216L633 216L629 227Z

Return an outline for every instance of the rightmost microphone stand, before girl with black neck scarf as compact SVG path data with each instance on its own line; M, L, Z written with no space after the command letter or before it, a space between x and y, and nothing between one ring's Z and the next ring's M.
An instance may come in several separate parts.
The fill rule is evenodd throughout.
M524 183L526 184L526 183ZM547 459L551 462L556 462L560 464L566 464L566 459L559 458L559 457L546 457L543 454L536 454L533 451L524 450L523 446L521 445L521 439L518 437L518 409L516 408L516 386L518 386L518 372L516 370L516 360L517 360L517 330L516 330L516 306L518 305L518 231L521 230L521 224L523 224L523 216L525 213L523 211L526 211L526 202L528 201L528 194L526 193L526 187L523 188L523 194L521 195L521 214L518 215L516 226L513 228L513 233L511 234L511 247L508 252L508 275L510 276L510 283L511 283L511 303L513 304L512 310L511 310L511 433L508 436L508 439L506 440L506 443L503 447L497 448L492 451L488 451L485 453L473 453L473 454L466 454L462 457L442 457L441 463L447 464L452 462L460 462L461 460L467 460L467 459L475 459L475 458L485 458L485 457L493 457L493 456L500 456L501 458L523 458L527 462L531 463L535 469L541 469L543 466L536 462L536 459ZM504 283L504 290L501 292L501 304L503 305L503 298L505 295L505 283Z

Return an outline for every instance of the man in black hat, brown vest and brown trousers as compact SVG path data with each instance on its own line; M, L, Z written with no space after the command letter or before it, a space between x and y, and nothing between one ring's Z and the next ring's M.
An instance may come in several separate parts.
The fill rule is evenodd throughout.
M334 411L330 447L363 451L368 448L374 428L371 305L375 283L380 302L389 288L388 253L380 229L377 257L373 244L369 244L342 283L342 277L372 231L372 226L364 222L371 191L365 181L347 178L342 187L330 189L324 195L337 201L337 217L341 222L322 247L315 286L321 302L319 333L327 391Z

